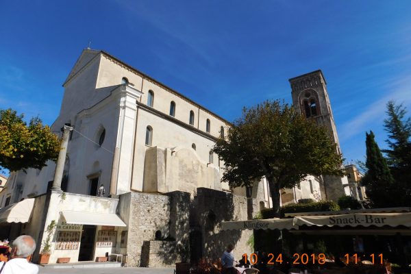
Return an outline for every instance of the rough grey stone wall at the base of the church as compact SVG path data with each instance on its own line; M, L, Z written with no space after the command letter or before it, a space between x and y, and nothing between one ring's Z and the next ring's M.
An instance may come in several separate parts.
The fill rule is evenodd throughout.
M132 192L129 201L129 266L164 267L217 259L229 244L234 245L238 259L253 251L247 244L253 231L221 231L221 222L247 220L247 203L256 213L257 199L247 201L232 193L197 188L193 198L181 191L165 195ZM160 238L156 238L158 231Z

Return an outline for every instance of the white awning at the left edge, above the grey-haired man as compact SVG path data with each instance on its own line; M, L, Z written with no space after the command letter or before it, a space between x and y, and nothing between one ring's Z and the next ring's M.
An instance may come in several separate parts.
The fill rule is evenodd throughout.
M30 198L1 208L0 223L27 223L32 215L33 206L34 198Z

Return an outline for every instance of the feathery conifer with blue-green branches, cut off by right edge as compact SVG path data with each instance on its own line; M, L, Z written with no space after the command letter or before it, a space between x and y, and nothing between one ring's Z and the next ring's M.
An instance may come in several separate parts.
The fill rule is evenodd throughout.
M406 108L395 105L394 101L387 103L384 127L388 132L386 140L390 149L383 150L388 157L388 165L395 182L403 189L403 199L411 203L411 118L405 118Z

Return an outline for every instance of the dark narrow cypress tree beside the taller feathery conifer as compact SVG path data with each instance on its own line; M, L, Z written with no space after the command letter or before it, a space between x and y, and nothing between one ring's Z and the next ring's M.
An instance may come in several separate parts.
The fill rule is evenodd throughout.
M377 142L375 142L373 132L366 133L365 144L367 172L362 178L362 184L366 186L366 195L371 200L373 207L397 206L398 188L388 164L382 156Z

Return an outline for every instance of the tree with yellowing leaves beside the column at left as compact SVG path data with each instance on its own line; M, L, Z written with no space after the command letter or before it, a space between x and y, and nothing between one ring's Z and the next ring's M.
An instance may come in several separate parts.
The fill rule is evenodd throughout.
M60 151L60 140L47 125L38 117L27 125L23 118L12 109L0 110L0 166L10 171L41 169Z

